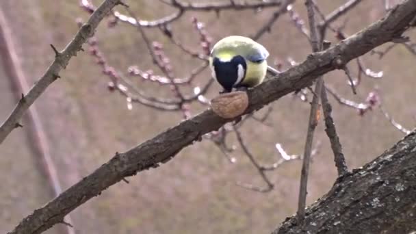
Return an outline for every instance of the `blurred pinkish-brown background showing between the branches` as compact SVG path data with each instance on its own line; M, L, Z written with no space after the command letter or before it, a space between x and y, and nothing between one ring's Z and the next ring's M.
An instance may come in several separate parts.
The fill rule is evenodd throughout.
M94 1L96 4L99 2ZM157 18L172 11L157 1L127 2L144 19ZM323 12L328 13L343 2L321 0L319 4ZM36 81L53 60L49 44L62 49L77 31L75 19L88 18L79 8L78 1L2 0L0 8L12 27L14 44L29 83ZM306 19L303 1L298 1L295 8ZM183 42L196 44L198 36L192 29L190 17L198 16L206 23L214 41L230 34L248 36L271 12L272 9L258 14L252 10L221 12L219 20L214 12L189 12L174 24L174 33ZM364 1L350 12L345 31L353 34L383 14L381 1ZM153 38L168 43L166 38L152 30L151 34ZM141 68L151 67L151 59L143 56L146 47L131 27L121 25L107 29L103 22L97 35L101 49L116 68L125 70L132 64ZM311 51L288 16L279 19L272 33L266 34L260 42L269 49L272 59L293 57L302 61ZM179 76L186 75L198 64L178 49L168 47ZM408 128L415 127L415 57L403 47L396 47L381 61L374 55L366 55L365 62L374 70L382 69L385 77L381 80L365 78L359 94L352 99L365 99L367 93L377 86L385 107L396 120ZM1 120L16 102L2 66L0 63ZM129 111L124 98L109 94L107 77L101 75L101 70L87 53L74 57L61 76L62 79L53 83L37 101L37 107L64 188L101 166L116 151L126 151L181 120L181 114L158 112L141 105L134 105ZM204 73L198 82L202 85L208 77L209 73ZM330 73L326 81L343 96L352 96L342 73ZM158 86L148 86L147 90L159 94ZM215 86L212 93L218 90ZM309 116L309 105L289 96L272 105L275 111L268 121L274 125L273 128L257 122L248 122L244 127L252 152L265 163L279 157L274 151L276 142L281 142L289 153L302 153ZM361 117L346 107L335 105L334 109L350 168L362 166L403 136L378 111ZM328 191L336 177L333 156L323 129L321 123L315 139L322 142L322 148L311 166L309 203ZM13 131L1 145L0 155L3 177L0 232L4 233L52 196L24 129ZM237 151L235 157L237 164L229 164L218 148L207 141L185 148L168 164L157 170L141 172L129 179L128 185L118 183L73 211L71 216L75 229L77 233L268 233L296 211L300 161L270 172L276 188L261 194L235 185L237 180L262 183L244 155ZM55 229L48 233L60 231Z

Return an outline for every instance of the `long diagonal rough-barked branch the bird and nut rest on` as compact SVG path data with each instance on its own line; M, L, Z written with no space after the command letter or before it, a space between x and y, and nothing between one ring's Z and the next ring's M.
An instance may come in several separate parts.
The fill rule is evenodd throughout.
M400 36L408 27L409 22L415 18L415 15L416 1L404 1L391 10L385 18L370 25L367 29L343 40L335 47L309 55L307 60L299 66L291 68L278 75L278 77L265 81L260 86L249 90L250 105L246 114L276 101L289 92L311 85L317 76L341 68L355 57L359 57L380 44ZM107 187L137 172L159 166L160 163L174 157L185 146L199 140L203 134L217 130L226 122L232 120L220 118L209 109L190 120L181 122L176 127L160 133L155 138L131 148L125 153L116 153L110 161L96 169L88 177L24 218L10 233L42 233L42 231L62 221L67 213L73 211L79 205L101 194ZM343 193L345 192L348 192L348 190ZM367 222L372 221L368 220Z

